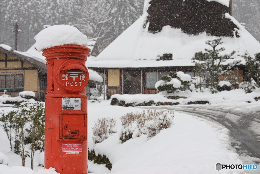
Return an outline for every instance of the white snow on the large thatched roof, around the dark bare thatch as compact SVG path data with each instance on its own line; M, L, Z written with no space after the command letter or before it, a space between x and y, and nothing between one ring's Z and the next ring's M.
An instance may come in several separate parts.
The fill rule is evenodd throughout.
M147 0L145 3L147 4L150 2L151 4L153 1L158 0ZM185 0L187 3L189 1L191 0ZM215 5L220 5L220 7L223 6L223 8L228 10L226 5L229 3L229 0L214 1L216 2L210 3L215 3ZM149 7L149 5L147 5L148 10L151 7ZM219 6L217 7L219 8ZM259 42L248 31L246 31L244 26L237 22L234 17L230 16L229 13L222 14L223 20L220 20L224 22L221 26L219 26L219 30L216 31L219 32L218 36L216 36L217 34L210 34L211 31L209 31L209 29L205 26L205 31L199 32L198 34L184 32L183 30L185 29L183 28L186 26L183 28L175 28L167 25L163 26L161 31L151 31L149 30L149 25L151 25L151 23L147 20L151 14L147 12L147 9L138 20L136 20L96 57L95 62L89 63L88 67L140 68L192 66L194 64L192 63L193 60L191 58L196 52L204 51L205 48L210 49L210 46L205 42L208 40L217 39L219 37L222 38L222 41L224 42L221 46L219 46L219 48L224 47L226 49L222 53L230 54L233 50L235 50L236 53L233 57L236 60L243 60L241 55L244 55L245 51L248 51L251 56L254 56L255 53L260 52ZM203 10L205 9L202 9L202 11ZM214 11L214 9L211 10ZM174 13L174 11L172 13ZM219 18L219 16L217 17ZM165 16L165 18L167 18L167 16ZM215 20L213 18L212 20L214 23L219 19ZM223 32L220 32L222 28L224 28ZM228 35L226 33L230 32L232 33L232 36L225 36ZM157 61L157 59L162 57L164 54L172 54L172 60ZM233 60L234 59L231 59L230 61Z

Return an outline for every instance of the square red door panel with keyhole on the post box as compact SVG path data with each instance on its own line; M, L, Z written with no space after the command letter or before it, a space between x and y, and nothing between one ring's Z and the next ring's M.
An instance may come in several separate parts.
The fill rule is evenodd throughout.
M60 115L60 138L87 138L85 114Z

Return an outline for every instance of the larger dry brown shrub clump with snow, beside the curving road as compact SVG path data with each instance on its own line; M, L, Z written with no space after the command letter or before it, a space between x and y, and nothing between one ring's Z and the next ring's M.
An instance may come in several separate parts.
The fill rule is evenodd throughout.
M127 113L120 117L122 122L120 140L125 142L141 134L153 137L161 130L171 127L173 117L173 112L170 111L144 110L141 113Z

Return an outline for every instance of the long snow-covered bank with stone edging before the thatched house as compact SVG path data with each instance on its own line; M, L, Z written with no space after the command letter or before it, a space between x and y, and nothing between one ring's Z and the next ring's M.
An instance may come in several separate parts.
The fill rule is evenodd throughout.
M116 98L119 101L125 101L125 103L135 103L135 105L140 103L147 103L149 101L158 102L169 102L169 103L179 103L187 104L189 102L195 101L208 101L209 104L223 104L223 103L241 103L241 102L256 102L255 97L260 96L260 89L254 90L251 93L245 93L244 89L234 89L231 91L221 91L217 94L212 94L208 88L203 90L204 92L196 92L195 90L191 92L190 90L179 91L172 94L167 94L167 92L160 92L158 94L114 94L111 98ZM166 98L165 95L169 96L179 96L184 98L179 98L176 100Z

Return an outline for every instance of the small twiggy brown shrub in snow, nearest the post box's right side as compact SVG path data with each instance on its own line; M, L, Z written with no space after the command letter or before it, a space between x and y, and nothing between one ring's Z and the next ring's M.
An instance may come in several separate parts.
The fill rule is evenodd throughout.
M116 120L114 118L101 118L95 122L93 130L94 143L100 143L108 138L109 135L116 133Z

